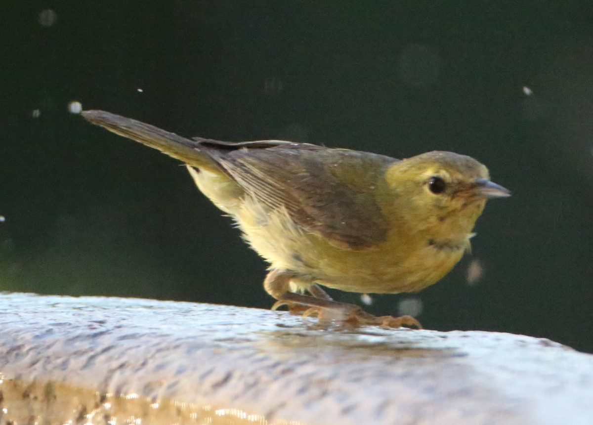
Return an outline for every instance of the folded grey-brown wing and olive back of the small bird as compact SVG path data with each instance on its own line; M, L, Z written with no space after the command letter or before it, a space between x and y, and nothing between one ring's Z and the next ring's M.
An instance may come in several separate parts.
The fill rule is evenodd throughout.
M244 146L221 154L218 162L259 202L271 210L285 208L301 228L320 233L334 245L362 249L384 241L387 221L372 187L385 165L396 160L294 145Z

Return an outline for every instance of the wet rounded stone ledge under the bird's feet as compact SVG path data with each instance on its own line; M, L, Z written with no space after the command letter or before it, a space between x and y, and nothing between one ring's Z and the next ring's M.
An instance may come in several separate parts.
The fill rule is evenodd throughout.
M522 335L0 294L0 424L593 423L593 356ZM31 422L30 422L31 423Z

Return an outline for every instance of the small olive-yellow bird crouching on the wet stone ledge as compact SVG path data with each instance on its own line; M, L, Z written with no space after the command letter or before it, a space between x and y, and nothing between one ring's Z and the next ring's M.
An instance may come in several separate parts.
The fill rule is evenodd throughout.
M231 216L269 264L263 286L295 314L353 326L422 328L410 316L375 316L322 289L417 292L470 250L486 200L511 192L467 155L406 159L286 140L184 138L100 110L88 122L186 164L196 186Z

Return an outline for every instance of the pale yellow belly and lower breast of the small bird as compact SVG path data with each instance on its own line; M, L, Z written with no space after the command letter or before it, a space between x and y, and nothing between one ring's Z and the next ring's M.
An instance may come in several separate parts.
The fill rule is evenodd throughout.
M393 234L363 250L331 245L321 235L305 232L282 210L269 212L244 202L235 214L245 239L270 268L311 276L313 282L349 292L415 292L441 279L461 259L464 249L439 249L420 235Z

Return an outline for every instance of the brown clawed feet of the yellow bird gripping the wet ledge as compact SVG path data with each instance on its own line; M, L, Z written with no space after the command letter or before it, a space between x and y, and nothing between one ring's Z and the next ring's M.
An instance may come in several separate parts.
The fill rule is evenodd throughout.
M275 310L282 305L288 306L292 314L302 313L302 317L317 317L317 320L323 325L337 323L351 327L376 325L382 328L416 327L422 329L420 322L412 316L375 316L355 304L330 301L292 292L283 294L272 306L272 309Z

